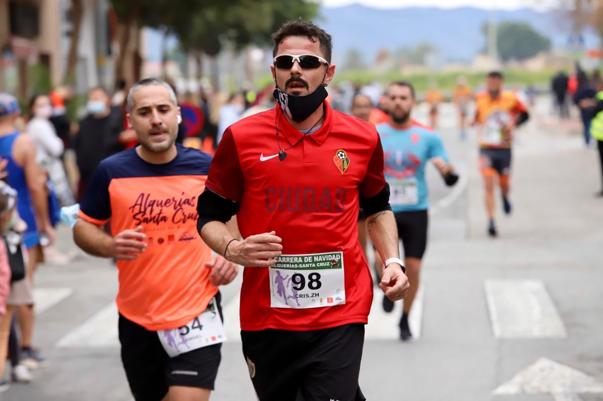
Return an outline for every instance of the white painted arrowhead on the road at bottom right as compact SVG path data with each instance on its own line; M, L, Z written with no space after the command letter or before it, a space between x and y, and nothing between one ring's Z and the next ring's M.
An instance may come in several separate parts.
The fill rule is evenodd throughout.
M603 394L603 384L575 368L540 358L499 385L492 394L552 394L555 401L575 401L579 400L577 394Z

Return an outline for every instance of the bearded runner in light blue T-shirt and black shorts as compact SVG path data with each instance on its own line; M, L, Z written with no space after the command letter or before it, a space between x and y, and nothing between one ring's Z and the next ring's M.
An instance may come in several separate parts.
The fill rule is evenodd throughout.
M398 236L402 240L406 275L410 288L404 299L400 319L400 338L412 339L408 314L417 294L421 259L427 245L429 198L425 181L425 166L431 162L440 171L447 185L458 180L450 165L440 136L430 127L411 118L416 104L411 83L401 81L388 87L390 121L377 125L384 150L385 179L390 185L390 204L396 217ZM376 254L376 266L382 262ZM393 302L384 298L386 312L393 310Z

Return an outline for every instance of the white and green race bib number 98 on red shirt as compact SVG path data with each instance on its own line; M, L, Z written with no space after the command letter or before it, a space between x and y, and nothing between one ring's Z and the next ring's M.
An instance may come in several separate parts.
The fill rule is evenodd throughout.
M343 252L281 255L270 267L271 308L323 308L344 303Z

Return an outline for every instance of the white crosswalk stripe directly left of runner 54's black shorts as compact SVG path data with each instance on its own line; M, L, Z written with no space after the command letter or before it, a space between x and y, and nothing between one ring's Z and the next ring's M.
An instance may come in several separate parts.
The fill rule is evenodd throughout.
M117 322L117 306L111 302L59 339L57 347L118 347Z

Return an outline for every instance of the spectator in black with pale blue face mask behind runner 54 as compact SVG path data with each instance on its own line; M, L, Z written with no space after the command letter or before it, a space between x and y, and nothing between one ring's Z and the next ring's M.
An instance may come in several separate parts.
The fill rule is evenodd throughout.
M80 170L78 201L98 163L124 150L124 145L119 142L119 134L124 128L122 113L110 104L111 98L103 87L95 87L88 92L88 115L80 121L80 130L73 143Z

